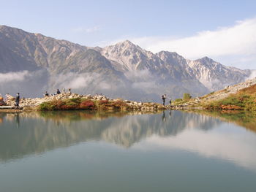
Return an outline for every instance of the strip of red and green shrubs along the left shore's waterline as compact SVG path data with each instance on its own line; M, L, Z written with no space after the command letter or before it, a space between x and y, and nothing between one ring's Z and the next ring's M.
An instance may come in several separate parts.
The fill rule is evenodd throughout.
M43 102L39 104L38 110L106 110L123 111L129 110L129 105L124 101L91 100L91 99L63 99Z

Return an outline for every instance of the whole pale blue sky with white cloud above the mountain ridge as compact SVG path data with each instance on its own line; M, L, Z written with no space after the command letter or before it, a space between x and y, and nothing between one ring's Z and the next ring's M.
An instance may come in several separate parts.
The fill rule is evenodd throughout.
M105 47L129 39L157 53L256 69L256 1L0 0L0 25Z

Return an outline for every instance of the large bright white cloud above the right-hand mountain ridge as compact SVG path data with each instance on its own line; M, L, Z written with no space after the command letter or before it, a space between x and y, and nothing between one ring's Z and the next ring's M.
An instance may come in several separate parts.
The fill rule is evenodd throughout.
M251 55L256 50L256 18L239 21L235 26L218 28L215 31L201 31L192 37L143 37L134 39L134 42L154 53L172 50L187 58L204 55Z

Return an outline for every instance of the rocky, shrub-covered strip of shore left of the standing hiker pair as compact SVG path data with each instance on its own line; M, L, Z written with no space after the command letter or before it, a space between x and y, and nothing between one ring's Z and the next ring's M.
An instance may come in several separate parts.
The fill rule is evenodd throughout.
M60 93L43 98L20 99L20 108L16 108L15 99L6 101L7 106L0 107L0 112L22 111L56 111L56 110L91 110L91 111L148 111L166 110L156 102L129 101L109 99L103 95L80 95L77 93ZM5 108L5 109L4 109Z

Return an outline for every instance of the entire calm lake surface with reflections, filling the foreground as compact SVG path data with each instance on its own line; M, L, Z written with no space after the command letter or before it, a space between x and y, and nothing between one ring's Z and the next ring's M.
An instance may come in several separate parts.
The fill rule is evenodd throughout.
M0 114L0 191L256 191L256 132L187 112Z

